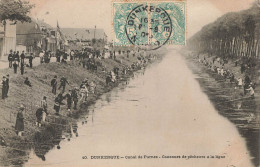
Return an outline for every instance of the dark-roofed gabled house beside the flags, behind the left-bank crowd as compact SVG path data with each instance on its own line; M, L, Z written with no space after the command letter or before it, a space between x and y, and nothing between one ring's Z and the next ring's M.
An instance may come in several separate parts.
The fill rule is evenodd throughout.
M35 53L41 51L56 52L57 49L64 49L66 39L62 34L59 25L51 27L42 20L32 19L29 23L17 23L16 29L17 47L16 50Z

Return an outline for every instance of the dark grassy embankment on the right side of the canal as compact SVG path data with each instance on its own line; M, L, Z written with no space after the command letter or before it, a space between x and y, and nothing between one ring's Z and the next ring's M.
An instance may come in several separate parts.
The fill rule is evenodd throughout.
M198 76L202 90L208 95L219 113L231 122L233 122L240 134L245 138L247 147L253 159L253 163L259 165L259 129L260 129L260 62L254 69L247 70L244 74L240 72L240 66L235 66L233 60L225 64L224 69L229 69L234 73L235 78L245 78L247 74L253 83L256 83L255 98L252 99L249 94L244 95L243 88L238 88L235 83L231 84L229 79L208 69L203 63L199 63L196 55L188 56L188 52L183 53L188 60L187 64L194 74ZM207 54L200 55L200 59L206 57L211 61L213 56ZM214 64L221 67L218 62Z

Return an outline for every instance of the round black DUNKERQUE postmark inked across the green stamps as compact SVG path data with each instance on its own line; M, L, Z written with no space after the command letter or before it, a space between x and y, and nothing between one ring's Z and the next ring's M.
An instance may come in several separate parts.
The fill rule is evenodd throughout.
M128 14L125 33L133 45L155 50L166 44L172 35L172 21L162 7L141 4Z

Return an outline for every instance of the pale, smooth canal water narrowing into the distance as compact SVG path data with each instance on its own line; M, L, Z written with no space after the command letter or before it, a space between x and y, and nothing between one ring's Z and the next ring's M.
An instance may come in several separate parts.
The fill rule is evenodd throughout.
M160 63L104 94L60 148L41 158L32 150L25 166L252 166L244 138L218 114L195 78L169 50Z

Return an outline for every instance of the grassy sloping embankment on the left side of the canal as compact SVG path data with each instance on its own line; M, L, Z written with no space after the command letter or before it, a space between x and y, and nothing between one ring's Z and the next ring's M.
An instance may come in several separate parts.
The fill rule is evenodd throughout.
M159 58L162 56L162 54L157 55L159 55ZM114 67L119 67L121 81L126 81L127 78L132 76L135 70L129 71L126 75L121 75L122 68L137 62L137 57L131 55L130 58L126 58L126 55L123 55L118 56L116 60L103 59L98 61L102 63L106 71L110 71ZM112 90L113 87L120 83L119 80L115 84L106 86L105 78L107 73L102 72L101 69L102 67L98 66L97 71L88 71L86 68L83 68L79 62L69 62L68 64L50 63L42 64L32 69L26 68L26 72L23 76L20 75L19 71L18 74L14 74L13 69L1 70L0 76L10 74L10 89L8 93L9 97L5 100L0 100L0 137L7 145L0 149L0 165L20 165L28 158L26 155L29 154L29 149L37 146L38 142L53 143L52 140L56 138L54 135L57 133L57 129L55 129L57 126L66 125L75 121L74 118L77 118L79 113L87 112L88 105L94 103L100 95ZM50 86L51 79L54 75L58 76L58 81L62 76L67 78L70 85L66 87L66 91L75 86L79 87L84 78L88 78L89 81L94 81L97 85L96 93L90 93L87 103L81 104L80 109L77 111L72 110L73 118L67 117L66 100L63 101L65 105L61 106L61 116L54 115L54 95L51 93ZM26 77L29 77L32 87L24 84ZM50 115L47 117L45 126L39 128L35 125L35 111L40 105L43 96L47 96L48 112ZM23 137L18 137L15 133L14 125L18 107L21 104L25 106L25 131ZM54 142L53 144L58 143ZM46 149L46 152L53 146L54 145L50 145L50 147ZM44 153L42 154L44 155Z

